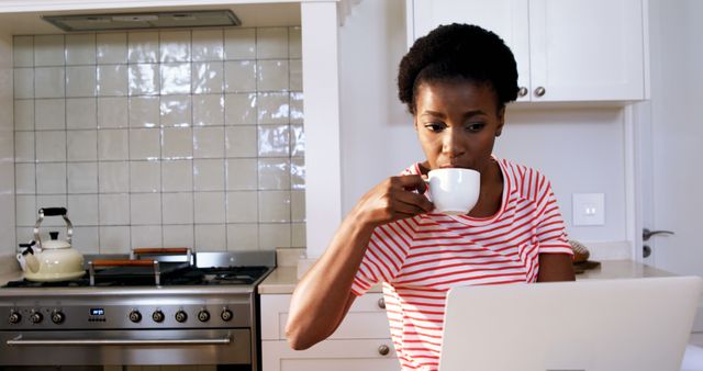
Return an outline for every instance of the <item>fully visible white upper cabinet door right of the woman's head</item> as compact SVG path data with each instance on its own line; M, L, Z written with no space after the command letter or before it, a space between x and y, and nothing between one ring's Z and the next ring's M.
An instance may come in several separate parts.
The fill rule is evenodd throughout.
M641 0L531 0L529 55L532 101L641 100Z

